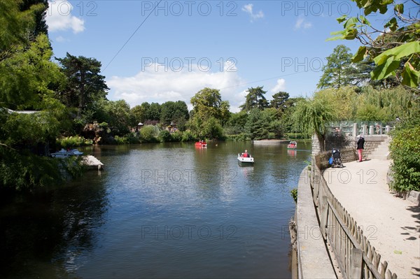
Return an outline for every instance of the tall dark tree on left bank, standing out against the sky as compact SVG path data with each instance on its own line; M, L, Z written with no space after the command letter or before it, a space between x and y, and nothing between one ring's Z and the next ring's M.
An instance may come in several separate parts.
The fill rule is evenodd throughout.
M78 108L77 117L80 119L82 113L91 108L95 101L105 99L106 90L109 90L105 77L99 74L102 64L97 59L76 57L69 52L66 57L56 59L67 77L62 92L59 92L59 99L66 106Z

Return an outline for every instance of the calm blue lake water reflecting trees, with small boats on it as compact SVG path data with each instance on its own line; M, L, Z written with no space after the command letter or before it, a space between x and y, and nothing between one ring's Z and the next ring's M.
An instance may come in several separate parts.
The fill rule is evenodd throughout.
M0 198L0 277L290 278L290 189L310 148L87 148L105 171ZM254 166L238 165L245 149Z

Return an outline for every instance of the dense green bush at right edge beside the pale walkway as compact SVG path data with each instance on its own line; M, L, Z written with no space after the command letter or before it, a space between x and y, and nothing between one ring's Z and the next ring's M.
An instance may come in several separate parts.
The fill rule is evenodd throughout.
M393 131L390 145L393 164L391 189L420 191L420 121L407 121Z

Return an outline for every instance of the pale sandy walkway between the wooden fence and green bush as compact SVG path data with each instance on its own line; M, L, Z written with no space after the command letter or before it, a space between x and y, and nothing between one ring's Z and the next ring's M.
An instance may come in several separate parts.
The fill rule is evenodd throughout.
M324 178L342 206L363 228L381 262L399 279L420 278L420 207L393 196L386 184L388 160L349 162Z

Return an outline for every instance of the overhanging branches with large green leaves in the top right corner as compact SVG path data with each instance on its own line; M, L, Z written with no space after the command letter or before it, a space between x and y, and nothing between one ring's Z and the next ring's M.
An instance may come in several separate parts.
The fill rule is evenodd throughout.
M343 15L337 18L344 29L332 32L335 37L330 40L357 39L362 46L353 56L353 62L365 58L374 62L375 67L371 72L374 80L383 80L395 76L402 85L412 88L419 87L420 83L420 19L418 1L398 3L394 1L365 1L352 0L358 8L363 8L364 15L349 17ZM408 7L408 8L407 8ZM367 20L370 14L385 14L388 8L393 9L393 17L388 17L381 27L374 27ZM375 17L376 19L377 17ZM375 20L376 22L381 22Z

